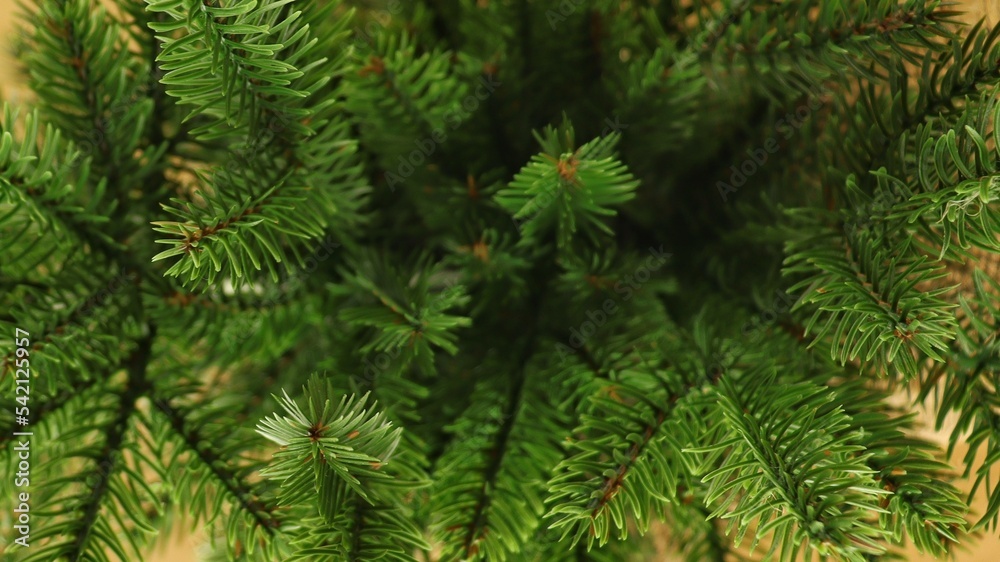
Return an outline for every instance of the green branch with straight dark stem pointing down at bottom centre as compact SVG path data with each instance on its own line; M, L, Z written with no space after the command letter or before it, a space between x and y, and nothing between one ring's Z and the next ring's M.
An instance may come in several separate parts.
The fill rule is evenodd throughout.
M548 288L535 292L529 306L544 306L548 294ZM542 483L558 460L555 437L565 425L538 384L533 359L540 324L529 328L514 360L503 362L503 368L513 370L511 380L476 385L468 408L452 426L453 439L437 459L432 527L446 556L506 560L522 551L539 524ZM485 407L504 394L495 409Z

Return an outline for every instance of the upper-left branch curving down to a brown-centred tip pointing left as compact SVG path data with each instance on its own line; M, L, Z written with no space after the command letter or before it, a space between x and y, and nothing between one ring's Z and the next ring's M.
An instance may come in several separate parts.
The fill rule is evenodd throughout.
M274 7L285 4L281 1ZM196 200L173 198L173 205L164 206L180 219L154 223L154 230L172 236L158 241L170 248L154 260L179 258L168 275L193 287L211 284L217 276L242 285L254 271L267 268L277 281L276 264L303 268L305 254L317 248L329 250L331 242L324 239L328 229L349 238L363 224L361 207L369 188L361 179L357 143L348 137L348 123L335 107L335 92L327 86L341 71L333 66L337 61L313 60L319 47L339 48L344 41L346 20L322 40L309 33L310 25L328 12L310 9L302 18L296 12L271 29L287 42L277 54L301 60L303 70L288 80L308 98L260 108L259 118L269 121L269 128L257 133L251 129L247 150L231 154L230 165L199 172L202 185ZM297 77L306 71L328 76ZM306 122L315 129L303 125ZM235 163L246 171L234 172Z

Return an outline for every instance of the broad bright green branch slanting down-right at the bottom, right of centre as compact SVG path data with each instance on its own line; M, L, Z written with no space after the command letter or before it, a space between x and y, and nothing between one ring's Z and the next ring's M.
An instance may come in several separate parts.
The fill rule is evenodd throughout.
M754 380L749 380L753 377ZM719 386L720 408L732 437L698 449L730 450L723 467L706 474L713 517L731 518L739 544L752 521L756 537L773 533L768 557L793 557L803 549L846 560L881 554L886 531L869 521L883 493L864 465L856 433L817 385L775 385L773 375L752 372L736 387ZM823 428L820 430L819 428ZM692 452L695 452L693 450Z

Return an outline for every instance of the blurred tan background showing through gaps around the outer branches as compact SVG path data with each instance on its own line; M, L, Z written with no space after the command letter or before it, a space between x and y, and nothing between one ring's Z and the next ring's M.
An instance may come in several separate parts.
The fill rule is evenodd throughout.
M794 1L794 0L790 0ZM966 10L966 19L970 22L985 17L991 24L1000 22L1000 0L957 0L962 9ZM30 103L30 93L23 85L17 61L13 54L12 40L16 37L18 30L18 18L20 7L15 0L0 0L0 99L21 105ZM901 404L907 401L905 396L900 396ZM949 427L942 428L941 431L933 431L933 417L926 411L922 412L924 427L923 437L936 440L942 444L947 443L947 435L950 433ZM965 449L960 445L953 459L961 459L965 454ZM178 467L178 470L184 470ZM963 481L965 489L968 489L969 482ZM981 513L985 507L984 501L973 504L973 510ZM663 562L675 560L669 551L669 536L662 530L654 527L655 538L660 546ZM204 542L204 534L198 530L190 530L190 525L182 523L173 536L160 538L157 552L149 560L151 562L197 562L201 557L198 555L199 546ZM906 559L916 562L935 560L933 557L923 556L915 550L906 552ZM957 562L997 562L1000 561L1000 537L997 532L981 535L973 544L965 545L955 553L954 560Z

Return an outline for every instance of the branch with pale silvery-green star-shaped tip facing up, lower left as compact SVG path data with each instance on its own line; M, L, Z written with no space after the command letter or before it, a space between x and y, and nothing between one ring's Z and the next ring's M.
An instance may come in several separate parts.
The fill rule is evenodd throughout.
M384 414L364 409L367 394L360 400L343 397L334 406L332 386L317 376L303 390L308 413L285 394L280 404L286 415L265 418L258 425L261 435L282 446L275 462L263 472L282 482L281 503L318 508L324 521L320 527L340 536L339 540L299 539L308 546L298 555L413 560L404 545L410 549L426 545L419 531L396 515L398 499L386 487L393 474L382 470L387 465L392 470L390 458L402 430L392 429Z

